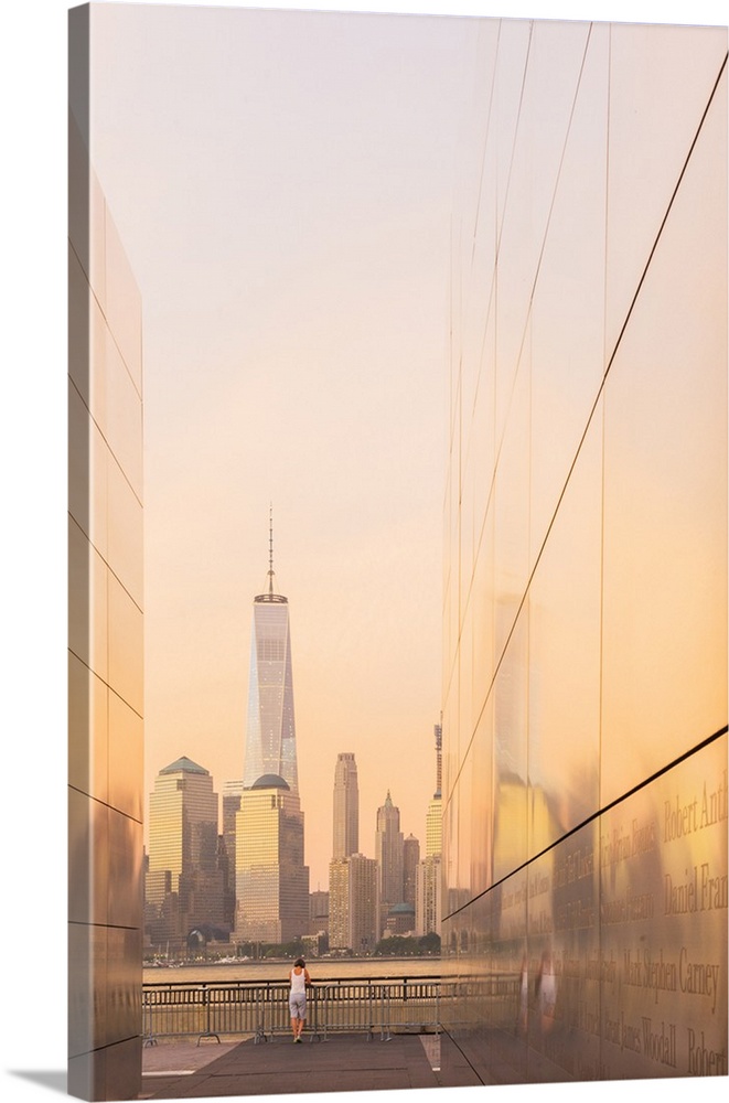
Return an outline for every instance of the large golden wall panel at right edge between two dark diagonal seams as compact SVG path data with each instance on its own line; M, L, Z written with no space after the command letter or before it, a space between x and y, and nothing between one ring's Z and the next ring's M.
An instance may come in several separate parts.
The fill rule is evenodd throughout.
M605 387L603 804L727 718L726 87Z

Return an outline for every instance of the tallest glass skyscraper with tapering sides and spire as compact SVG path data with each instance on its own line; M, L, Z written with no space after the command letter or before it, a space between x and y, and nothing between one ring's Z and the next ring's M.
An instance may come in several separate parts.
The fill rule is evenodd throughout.
M250 789L264 774L275 774L298 793L289 601L276 592L274 578L271 523L268 588L254 599L243 783Z

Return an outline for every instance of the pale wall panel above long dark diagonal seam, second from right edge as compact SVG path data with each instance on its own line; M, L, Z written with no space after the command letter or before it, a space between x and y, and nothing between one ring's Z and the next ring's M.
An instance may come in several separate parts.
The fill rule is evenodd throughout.
M532 306L530 567L602 383L609 44L592 26Z

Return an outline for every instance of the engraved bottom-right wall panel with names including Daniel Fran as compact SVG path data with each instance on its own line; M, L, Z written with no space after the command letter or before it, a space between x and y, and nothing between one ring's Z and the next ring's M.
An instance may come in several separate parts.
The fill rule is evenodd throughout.
M605 1077L727 1074L727 737L601 817Z

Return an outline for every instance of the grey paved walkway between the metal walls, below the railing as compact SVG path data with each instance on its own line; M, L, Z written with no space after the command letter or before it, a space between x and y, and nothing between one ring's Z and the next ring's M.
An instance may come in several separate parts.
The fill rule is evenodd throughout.
M185 1100L225 1095L277 1095L299 1092L353 1092L403 1088L455 1088L480 1084L448 1039L395 1035L389 1041L366 1035L330 1035L301 1045L290 1038L255 1045L170 1042L142 1051L144 1100ZM452 1051L451 1051L452 1050ZM442 1065L442 1067L441 1067Z

